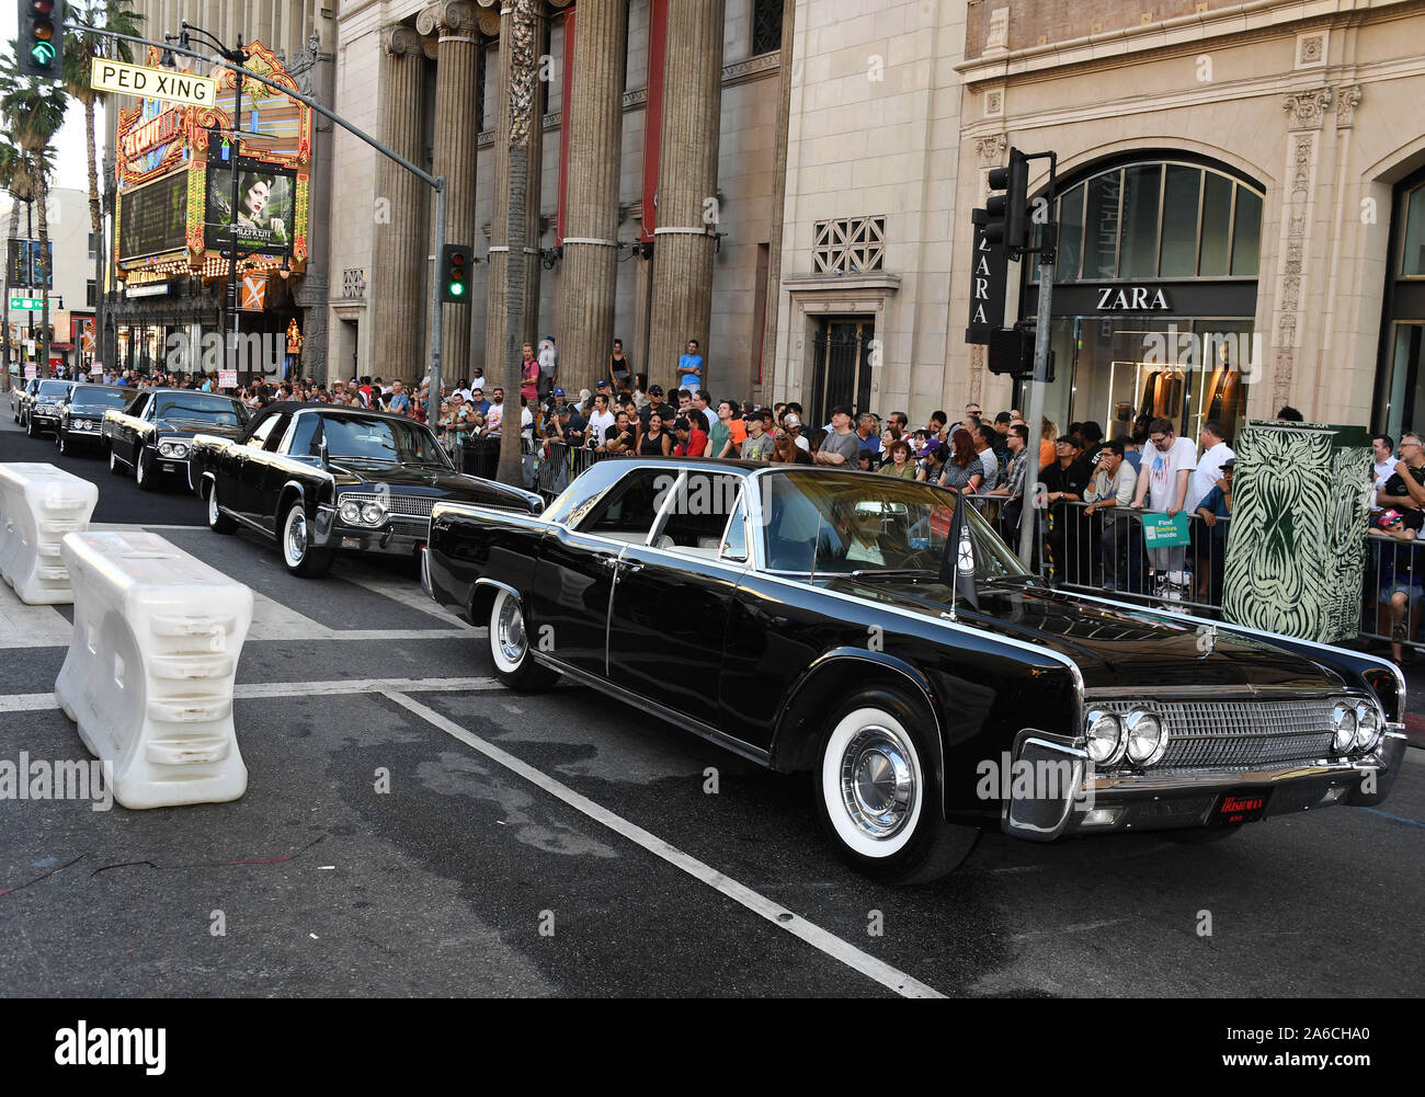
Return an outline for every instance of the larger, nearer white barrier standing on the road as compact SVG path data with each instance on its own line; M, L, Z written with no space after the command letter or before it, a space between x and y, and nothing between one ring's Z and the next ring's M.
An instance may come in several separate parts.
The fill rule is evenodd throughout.
M237 799L232 681L252 591L154 533L71 533L74 635L54 697L125 808Z

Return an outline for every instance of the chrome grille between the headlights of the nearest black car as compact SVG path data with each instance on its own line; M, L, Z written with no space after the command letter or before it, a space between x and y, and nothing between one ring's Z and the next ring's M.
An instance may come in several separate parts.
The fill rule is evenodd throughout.
M1154 774L1171 769L1258 769L1331 758L1331 700L1295 701L1090 701L1126 715L1156 712L1168 744Z

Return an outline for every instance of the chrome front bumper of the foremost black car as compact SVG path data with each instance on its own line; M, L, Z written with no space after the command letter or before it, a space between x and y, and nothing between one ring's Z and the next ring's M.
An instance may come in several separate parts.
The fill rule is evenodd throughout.
M1387 798L1405 758L1405 735L1392 725L1375 751L1349 761L1251 769L1096 774L1087 754L1057 735L1026 729L1015 765L1035 774L1029 795L1002 804L1005 833L1032 842L1070 835L1208 826L1227 795L1261 794L1261 818L1327 808L1371 806ZM1046 776L1047 775L1047 776Z

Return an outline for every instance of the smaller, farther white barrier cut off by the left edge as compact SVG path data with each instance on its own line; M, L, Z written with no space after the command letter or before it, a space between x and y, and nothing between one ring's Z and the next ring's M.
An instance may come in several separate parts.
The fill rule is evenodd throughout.
M88 529L95 503L95 484L53 464L0 464L0 576L20 601L74 601L60 541Z

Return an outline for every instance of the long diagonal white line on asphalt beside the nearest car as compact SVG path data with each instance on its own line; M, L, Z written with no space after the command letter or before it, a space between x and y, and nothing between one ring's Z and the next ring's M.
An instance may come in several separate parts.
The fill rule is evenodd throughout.
M781 906L779 903L774 903L771 899L765 898L764 895L760 895L758 892L754 892L751 888L747 888L745 885L738 883L730 876L722 875L710 865L704 865L697 858L684 853L681 849L677 849L675 846L664 842L661 838L650 833L648 831L644 831L641 826L628 822L623 816L614 815L607 808L594 804L587 796L581 796L567 785L554 781L551 776L547 776L534 766L522 762L514 755L507 754L502 751L499 747L486 742L479 735L470 734L455 721L447 719L446 717L436 712L433 708L429 708L420 704L419 701L413 701L409 697L403 697L399 692L389 694L389 697L398 705L402 705L410 712L415 712L428 724L440 728L440 731L446 732L455 739L459 739L466 747L479 751L496 765L502 765L506 769L517 774L519 776L523 776L526 781L544 789L551 796L561 799L574 811L587 815L594 822L603 823L610 831L623 835L634 845L643 846L654 856L661 858L674 868L681 869L694 879L701 880L714 890L721 892L728 899L741 903L754 915L765 917L778 929L787 930L794 937L799 937L801 940L811 945L814 949L819 949L826 956L831 956L834 960L839 960L848 967L861 972L864 976L874 979L875 982L889 987L891 990L895 990L902 997L945 997L940 992L935 990L931 986L926 986L925 983L916 979L912 979L905 972L901 972L888 965L885 960L878 960L875 956L862 952L855 945L842 940L835 933L829 933L821 926L808 922L807 919L799 917L798 915L794 915L791 910Z

